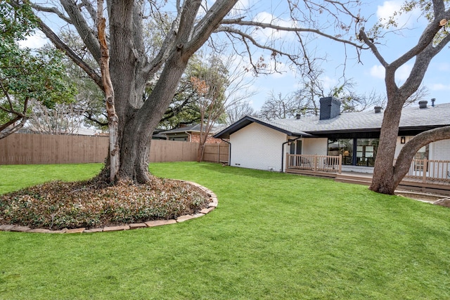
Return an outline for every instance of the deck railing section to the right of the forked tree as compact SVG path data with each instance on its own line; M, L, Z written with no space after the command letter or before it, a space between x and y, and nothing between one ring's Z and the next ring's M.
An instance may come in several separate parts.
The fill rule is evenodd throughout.
M413 159L405 178L425 182L450 183L450 160Z

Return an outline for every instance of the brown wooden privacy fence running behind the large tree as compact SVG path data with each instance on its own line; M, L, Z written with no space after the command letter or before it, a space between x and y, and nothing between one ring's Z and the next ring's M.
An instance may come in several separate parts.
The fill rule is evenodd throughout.
M207 144L205 162L228 162L226 143ZM13 133L0 139L0 164L84 164L104 162L107 136L53 136ZM153 140L150 162L196 161L198 143Z

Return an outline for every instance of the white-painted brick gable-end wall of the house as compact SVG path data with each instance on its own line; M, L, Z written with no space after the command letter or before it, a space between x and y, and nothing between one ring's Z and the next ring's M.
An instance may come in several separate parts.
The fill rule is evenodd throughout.
M280 171L285 133L252 123L231 134L231 166ZM285 148L287 149L287 148Z

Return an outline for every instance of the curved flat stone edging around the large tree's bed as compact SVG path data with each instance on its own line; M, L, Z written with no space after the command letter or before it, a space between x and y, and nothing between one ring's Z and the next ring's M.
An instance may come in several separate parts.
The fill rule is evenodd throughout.
M172 179L172 180L188 183L197 188L200 188L200 190L203 190L210 197L210 203L208 204L208 207L205 209L202 209L200 211L200 213L198 213L198 214L186 214L184 216L179 216L176 219L147 221L147 222L143 222L143 223L127 224L124 226L106 226L103 228L92 228L92 229L86 229L86 228L82 227L82 228L73 228L73 229L49 230L49 229L44 229L44 228L31 229L28 226L0 225L0 231L14 231L14 232L20 232L20 233L105 233L108 231L131 230L131 229L137 229L137 228L147 228L147 227L155 227L155 226L181 223L181 222L188 221L191 219L196 219L196 218L199 218L200 216L205 216L205 214L208 214L210 211L214 210L217 207L217 205L219 204L216 194L212 193L212 190L205 188L203 185L200 185L200 184L192 182L192 181L183 181L183 180L178 180L178 179Z

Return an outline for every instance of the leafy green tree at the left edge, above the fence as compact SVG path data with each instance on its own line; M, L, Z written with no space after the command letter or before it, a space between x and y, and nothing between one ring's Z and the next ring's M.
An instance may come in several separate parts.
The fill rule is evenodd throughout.
M66 83L60 53L51 49L33 53L18 45L32 34L35 22L27 2L0 3L0 138L25 125L30 101L52 107L73 100L75 90Z

